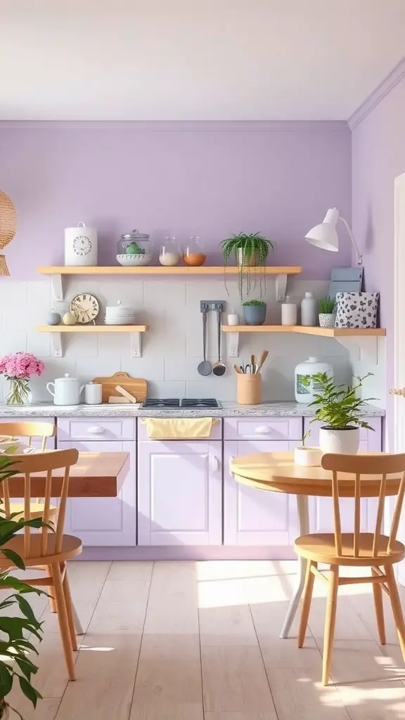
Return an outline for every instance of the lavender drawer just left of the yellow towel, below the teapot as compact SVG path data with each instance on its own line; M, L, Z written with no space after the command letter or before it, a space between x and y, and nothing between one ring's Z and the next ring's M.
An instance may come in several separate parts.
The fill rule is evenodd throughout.
M58 441L136 440L135 418L58 418Z

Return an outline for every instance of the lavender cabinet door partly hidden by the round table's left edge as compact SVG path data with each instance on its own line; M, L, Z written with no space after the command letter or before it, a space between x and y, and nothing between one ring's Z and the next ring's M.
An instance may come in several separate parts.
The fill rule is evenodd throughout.
M236 482L229 472L233 457L255 452L293 450L299 441L225 441L224 442L224 544L267 545L272 556L280 557L280 546L290 546L297 531L295 495L272 490L257 490Z

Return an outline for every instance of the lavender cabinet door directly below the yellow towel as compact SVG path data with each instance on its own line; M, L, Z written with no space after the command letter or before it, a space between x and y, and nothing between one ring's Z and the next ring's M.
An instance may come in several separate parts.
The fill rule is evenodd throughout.
M221 545L221 441L138 443L138 544Z

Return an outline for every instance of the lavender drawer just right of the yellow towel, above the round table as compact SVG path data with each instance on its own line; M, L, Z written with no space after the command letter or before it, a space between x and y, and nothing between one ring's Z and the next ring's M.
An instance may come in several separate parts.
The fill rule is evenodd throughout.
M225 418L224 440L302 440L302 418Z

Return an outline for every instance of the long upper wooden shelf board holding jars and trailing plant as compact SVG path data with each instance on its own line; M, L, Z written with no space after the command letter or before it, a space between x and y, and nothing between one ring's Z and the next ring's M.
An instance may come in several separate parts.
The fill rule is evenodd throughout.
M272 266L250 268L252 271L265 272L266 275L299 275L302 271L298 266ZM38 272L41 275L236 275L239 271L237 266L224 268L223 266L202 265L200 267L188 267L176 265L168 268L164 266L146 267L122 267L118 266L49 266L40 267Z

